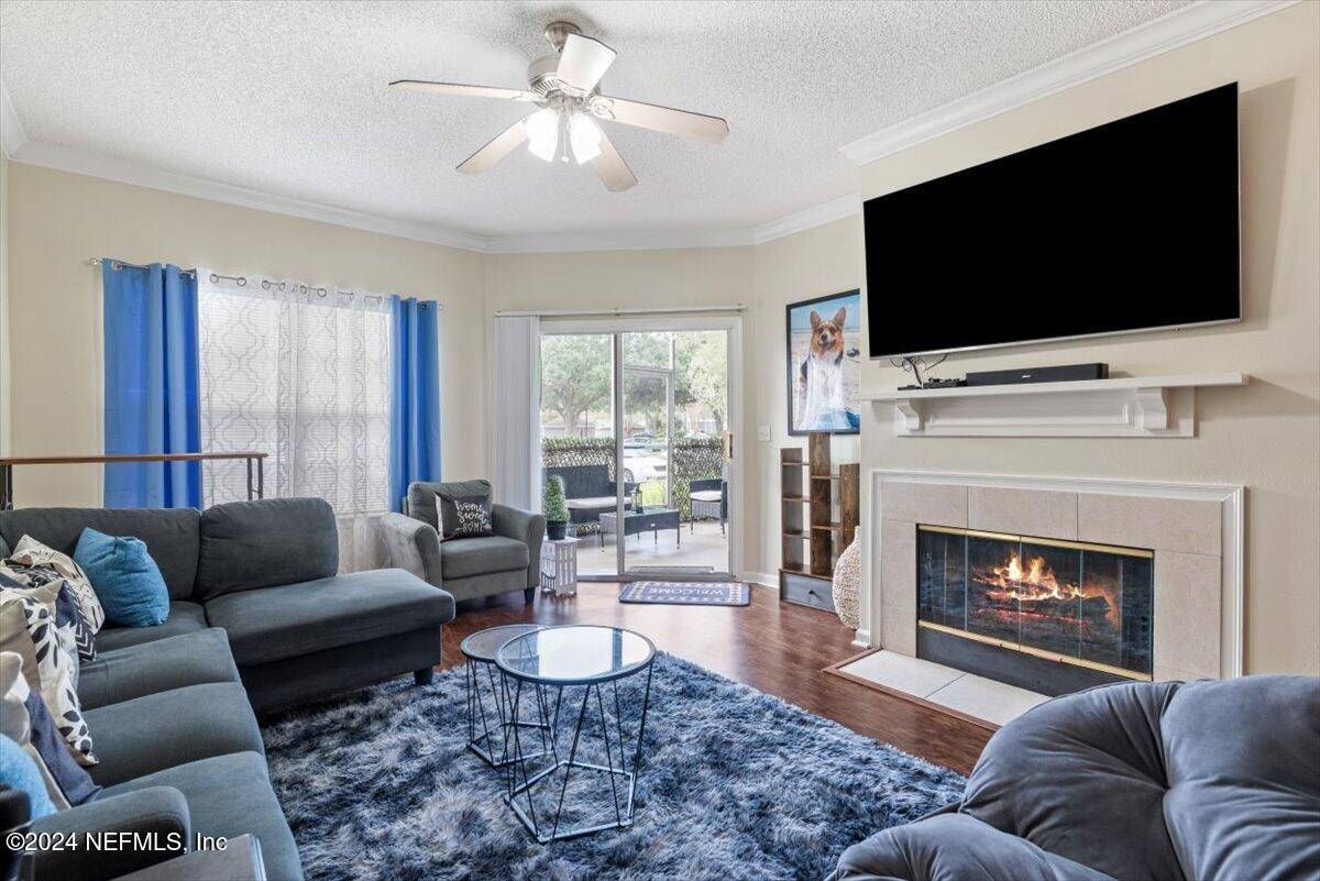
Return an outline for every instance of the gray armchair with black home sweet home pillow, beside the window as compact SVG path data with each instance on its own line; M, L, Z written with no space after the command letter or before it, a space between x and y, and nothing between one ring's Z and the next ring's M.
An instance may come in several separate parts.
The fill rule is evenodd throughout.
M404 502L405 514L380 520L389 566L405 568L455 600L470 600L508 591L523 591L531 603L540 584L541 539L545 517L508 505L495 505L494 535L440 541L436 491L454 495L490 495L487 480L461 483L413 483Z

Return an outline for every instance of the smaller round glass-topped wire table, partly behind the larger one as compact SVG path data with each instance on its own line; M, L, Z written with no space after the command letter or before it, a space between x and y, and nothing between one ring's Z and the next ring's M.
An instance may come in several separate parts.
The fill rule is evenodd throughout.
M507 746L511 743L508 728L513 724L504 678L495 671L495 654L510 640L540 629L540 624L492 626L473 633L458 646L466 659L463 684L467 687L467 748L491 768L502 768L512 761ZM536 696L541 699L544 692L536 691ZM548 728L536 723L521 724L525 728L539 729L541 739L546 740ZM548 741L545 745L549 745ZM543 748L537 754L544 752Z

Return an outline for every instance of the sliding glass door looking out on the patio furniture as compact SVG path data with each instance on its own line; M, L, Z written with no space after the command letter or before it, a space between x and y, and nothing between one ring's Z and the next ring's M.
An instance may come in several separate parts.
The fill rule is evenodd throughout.
M581 576L735 570L737 320L543 322L543 464L565 481Z

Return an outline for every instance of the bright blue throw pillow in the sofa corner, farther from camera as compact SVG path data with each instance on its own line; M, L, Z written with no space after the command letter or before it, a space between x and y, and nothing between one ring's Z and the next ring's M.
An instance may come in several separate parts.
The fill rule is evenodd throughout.
M143 539L83 529L74 549L74 562L87 572L106 609L106 624L152 626L169 617L165 579Z

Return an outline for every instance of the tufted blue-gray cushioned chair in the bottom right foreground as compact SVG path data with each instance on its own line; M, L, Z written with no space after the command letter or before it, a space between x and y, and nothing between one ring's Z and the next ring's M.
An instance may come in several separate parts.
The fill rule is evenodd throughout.
M829 881L1320 878L1320 679L1101 686L990 739L962 801Z

